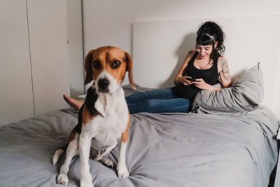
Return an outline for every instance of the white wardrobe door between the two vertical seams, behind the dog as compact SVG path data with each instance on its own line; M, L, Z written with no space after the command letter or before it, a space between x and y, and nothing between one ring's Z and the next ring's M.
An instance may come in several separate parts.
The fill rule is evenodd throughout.
M66 0L27 0L35 114L64 109L69 95Z

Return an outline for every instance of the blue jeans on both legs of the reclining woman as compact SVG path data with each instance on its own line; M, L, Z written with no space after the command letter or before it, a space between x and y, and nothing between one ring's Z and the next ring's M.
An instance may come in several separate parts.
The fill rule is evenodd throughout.
M175 98L172 88L139 92L125 97L130 113L188 112L190 100Z

